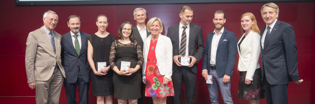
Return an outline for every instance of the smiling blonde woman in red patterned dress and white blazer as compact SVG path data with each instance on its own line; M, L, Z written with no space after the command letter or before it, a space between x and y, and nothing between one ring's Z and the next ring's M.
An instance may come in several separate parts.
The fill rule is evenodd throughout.
M166 97L174 96L172 42L169 37L161 35L163 26L160 18L151 18L146 27L151 34L143 44L142 81L146 84L145 96L152 97L154 104L166 104Z

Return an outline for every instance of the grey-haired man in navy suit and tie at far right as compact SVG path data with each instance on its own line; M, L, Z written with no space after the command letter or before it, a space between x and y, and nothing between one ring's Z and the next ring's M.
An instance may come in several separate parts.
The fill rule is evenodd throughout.
M299 84L297 49L293 27L277 20L279 7L267 3L261 7L266 26L261 30L261 69L267 104L287 104L288 84Z

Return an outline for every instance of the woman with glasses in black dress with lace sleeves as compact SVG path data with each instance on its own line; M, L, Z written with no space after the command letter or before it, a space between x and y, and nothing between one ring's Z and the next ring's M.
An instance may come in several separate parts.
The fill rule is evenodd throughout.
M112 43L109 63L115 71L113 75L115 98L118 104L137 104L141 97L141 72L143 55L140 44L134 40L132 25L126 21L118 30L119 40ZM121 69L121 63L130 62L128 68ZM125 65L123 65L125 66ZM127 65L126 65L127 67Z

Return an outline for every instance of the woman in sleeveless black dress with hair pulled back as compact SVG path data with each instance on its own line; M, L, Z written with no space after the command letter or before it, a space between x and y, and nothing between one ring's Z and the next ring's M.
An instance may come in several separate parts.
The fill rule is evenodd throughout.
M116 37L106 32L108 22L105 15L97 17L96 25L98 31L89 37L88 43L88 60L92 68L92 92L97 98L97 104L104 104L104 96L105 104L112 104L112 95L114 94L113 71L108 67L108 57L111 44L116 40ZM106 66L97 71L97 62L106 62Z

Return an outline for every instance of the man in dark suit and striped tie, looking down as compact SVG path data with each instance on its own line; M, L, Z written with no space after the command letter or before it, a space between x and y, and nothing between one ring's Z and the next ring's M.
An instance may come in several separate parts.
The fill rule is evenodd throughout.
M185 82L186 104L194 104L196 75L198 61L202 57L204 49L201 27L190 23L192 21L192 7L180 7L180 23L168 28L167 37L173 45L173 74L174 104L180 104L180 93L183 81ZM179 57L189 57L188 66L182 66ZM197 63L197 64L195 64Z

